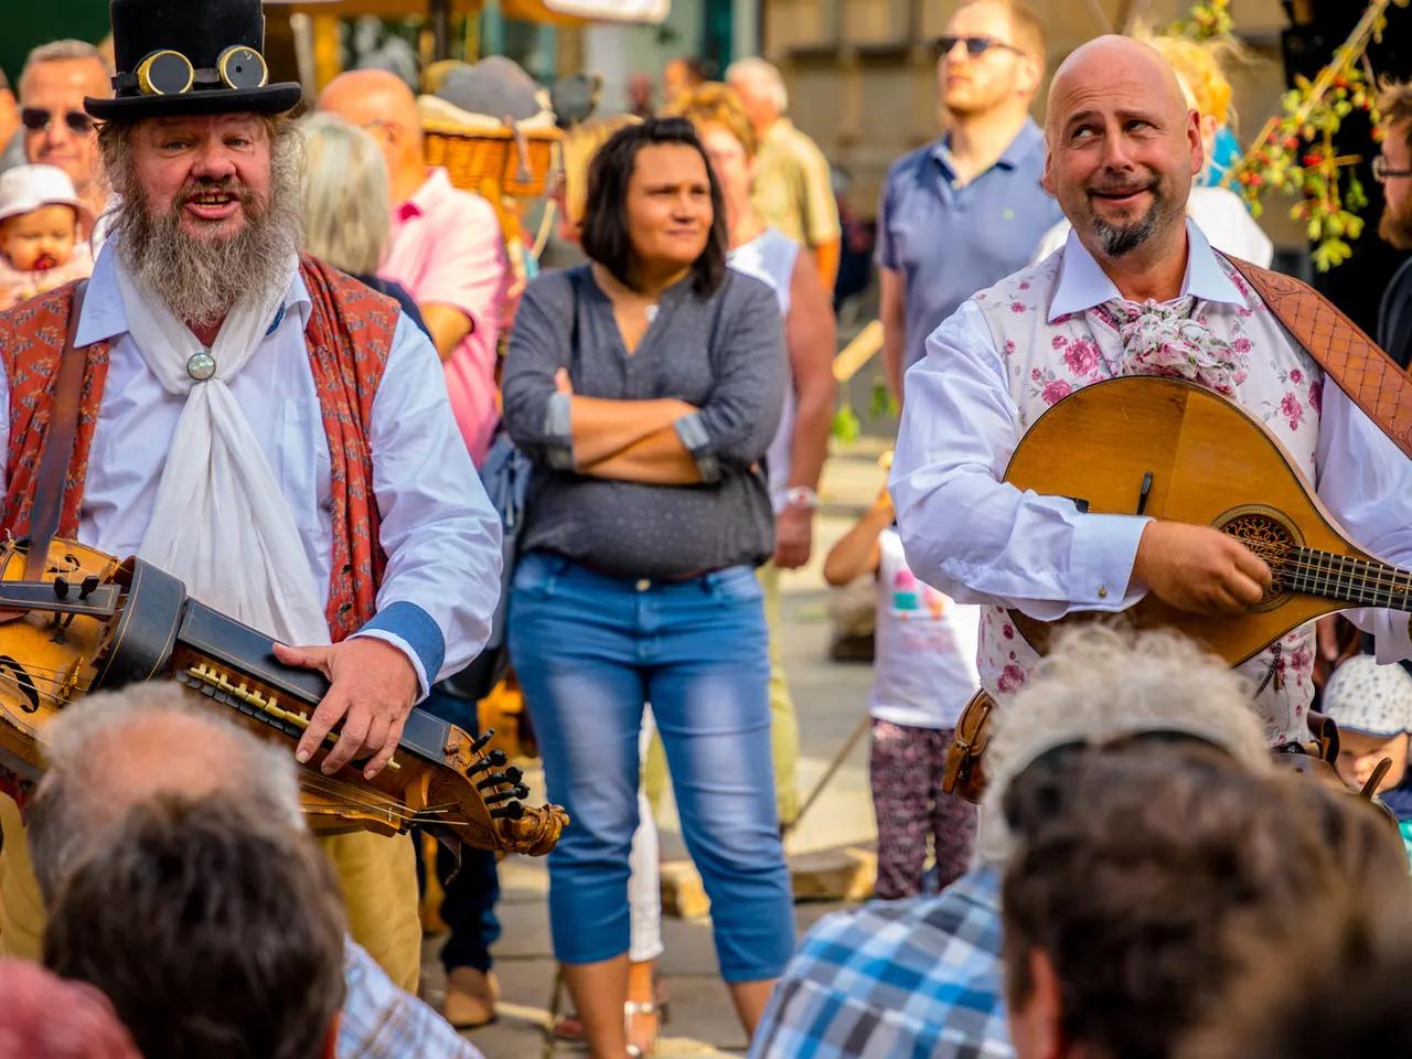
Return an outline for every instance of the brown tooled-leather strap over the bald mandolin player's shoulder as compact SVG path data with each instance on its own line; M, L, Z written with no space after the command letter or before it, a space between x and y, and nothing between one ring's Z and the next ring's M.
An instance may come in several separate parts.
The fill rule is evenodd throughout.
M1319 291L1238 257L1226 260L1324 374L1412 457L1412 377Z

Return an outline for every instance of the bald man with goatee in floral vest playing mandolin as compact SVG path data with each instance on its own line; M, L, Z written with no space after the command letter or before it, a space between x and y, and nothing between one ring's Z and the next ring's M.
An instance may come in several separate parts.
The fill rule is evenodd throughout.
M1038 661L1007 609L1052 621L1152 593L1237 614L1271 585L1264 561L1210 527L1090 514L1003 481L1029 425L1090 383L1159 371L1216 390L1265 424L1354 541L1412 561L1412 462L1326 384L1323 350L1300 347L1185 216L1206 160L1199 117L1161 55L1124 37L1073 52L1049 89L1045 144L1043 182L1073 225L1069 241L928 339L907 376L891 479L912 569L983 604L981 685L1001 709ZM1163 349L1182 350L1180 364ZM1375 634L1380 662L1412 655L1406 614L1350 617ZM1306 626L1241 666L1271 744L1309 736L1313 652Z

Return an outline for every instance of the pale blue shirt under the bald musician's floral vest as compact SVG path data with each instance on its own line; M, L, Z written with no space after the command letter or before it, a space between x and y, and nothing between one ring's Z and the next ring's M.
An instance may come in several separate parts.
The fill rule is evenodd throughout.
M1244 305L1200 229L1187 220L1186 230L1182 294ZM1049 321L1118 297L1072 233L1063 254ZM979 305L967 301L907 374L890 489L912 570L960 603L1017 607L1046 621L1132 606L1147 594L1131 575L1149 520L1080 513L1072 500L1003 481L1022 432L1004 359ZM1319 498L1348 535L1389 562L1412 565L1412 460L1337 385L1323 390L1315 463ZM1412 654L1406 614L1348 617L1377 637L1380 662Z

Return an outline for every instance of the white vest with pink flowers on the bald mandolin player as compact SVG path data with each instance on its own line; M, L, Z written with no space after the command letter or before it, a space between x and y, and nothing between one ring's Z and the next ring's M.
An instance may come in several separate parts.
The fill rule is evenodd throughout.
M1230 263L1220 256L1217 261L1245 304L1197 301L1192 315L1241 359L1234 400L1269 428L1315 481L1323 371ZM1120 374L1125 360L1117 322L1103 306L1046 319L1062 264L1063 254L1052 254L976 295L1003 353L1021 429L1075 390ZM1272 746L1308 738L1313 650L1313 626L1305 626L1240 666L1258 689L1254 705ZM981 609L979 668L991 695L1014 692L1036 659L1003 609Z

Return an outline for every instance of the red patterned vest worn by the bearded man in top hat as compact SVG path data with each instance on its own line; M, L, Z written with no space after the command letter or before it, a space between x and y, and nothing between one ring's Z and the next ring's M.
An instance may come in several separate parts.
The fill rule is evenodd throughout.
M325 617L329 635L337 642L373 617L387 565L378 545L369 425L400 309L391 298L312 257L301 258L299 274L312 301L305 340L332 463L333 548ZM10 448L0 531L13 537L28 532L34 477L48 435L72 305L71 284L0 313L0 363L10 380ZM107 364L109 343L89 346L78 436L65 480L61 537L73 538L79 531L89 449L103 402Z

